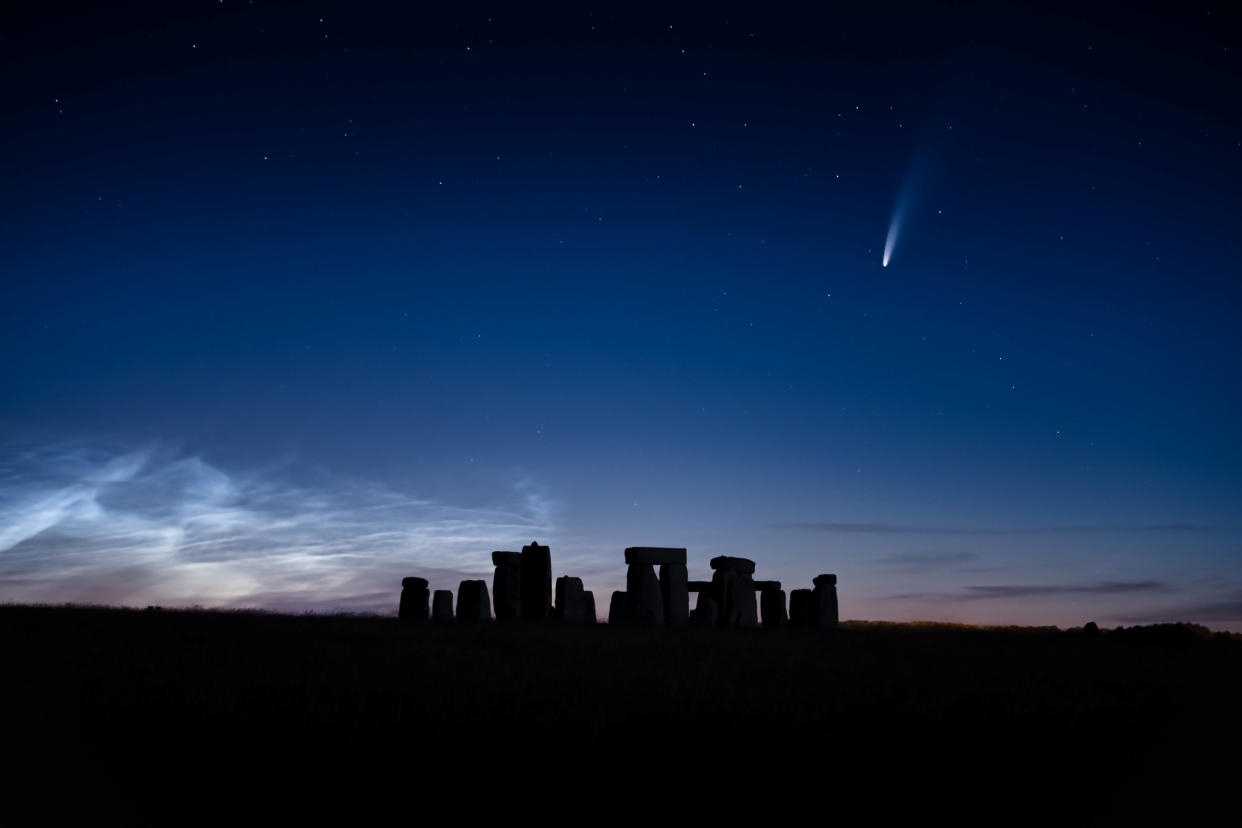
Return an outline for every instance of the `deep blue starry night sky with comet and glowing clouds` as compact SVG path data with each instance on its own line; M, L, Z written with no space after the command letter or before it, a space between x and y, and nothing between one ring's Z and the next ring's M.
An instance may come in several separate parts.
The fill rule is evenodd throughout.
M862 5L6 5L0 601L1242 629L1237 11Z

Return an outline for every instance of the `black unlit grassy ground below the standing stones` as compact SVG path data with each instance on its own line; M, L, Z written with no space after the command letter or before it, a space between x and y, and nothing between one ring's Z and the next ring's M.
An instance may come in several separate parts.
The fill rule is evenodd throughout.
M636 631L4 606L0 658L6 797L53 811L258 794L381 802L411 821L441 803L453 824L1107 824L1184 822L1240 782L1242 639L1194 627Z

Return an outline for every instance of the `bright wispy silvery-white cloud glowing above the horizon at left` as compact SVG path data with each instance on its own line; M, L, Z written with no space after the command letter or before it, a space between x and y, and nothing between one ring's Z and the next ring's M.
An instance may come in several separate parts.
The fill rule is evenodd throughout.
M554 531L530 480L467 508L289 478L155 447L0 457L0 600L385 610L405 575L452 588Z

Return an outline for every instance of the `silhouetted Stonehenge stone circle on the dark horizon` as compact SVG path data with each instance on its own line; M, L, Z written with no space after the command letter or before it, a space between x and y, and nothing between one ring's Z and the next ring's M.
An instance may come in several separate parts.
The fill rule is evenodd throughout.
M612 592L609 601L611 624L744 628L761 624L769 629L840 624L836 575L815 576L814 588L794 590L786 606L781 582L756 581L755 562L748 557L710 559L710 581L689 580L686 549L679 546L630 546L625 550L625 562L626 588ZM497 550L492 552L492 564L496 567L492 593L487 581L462 581L456 612L451 591L436 590L432 596L426 578L401 578L397 617L478 623L491 621L494 608L496 621L597 622L595 593L584 588L580 577L559 576L553 590L548 546L532 541L520 552ZM692 592L697 595L693 611Z

